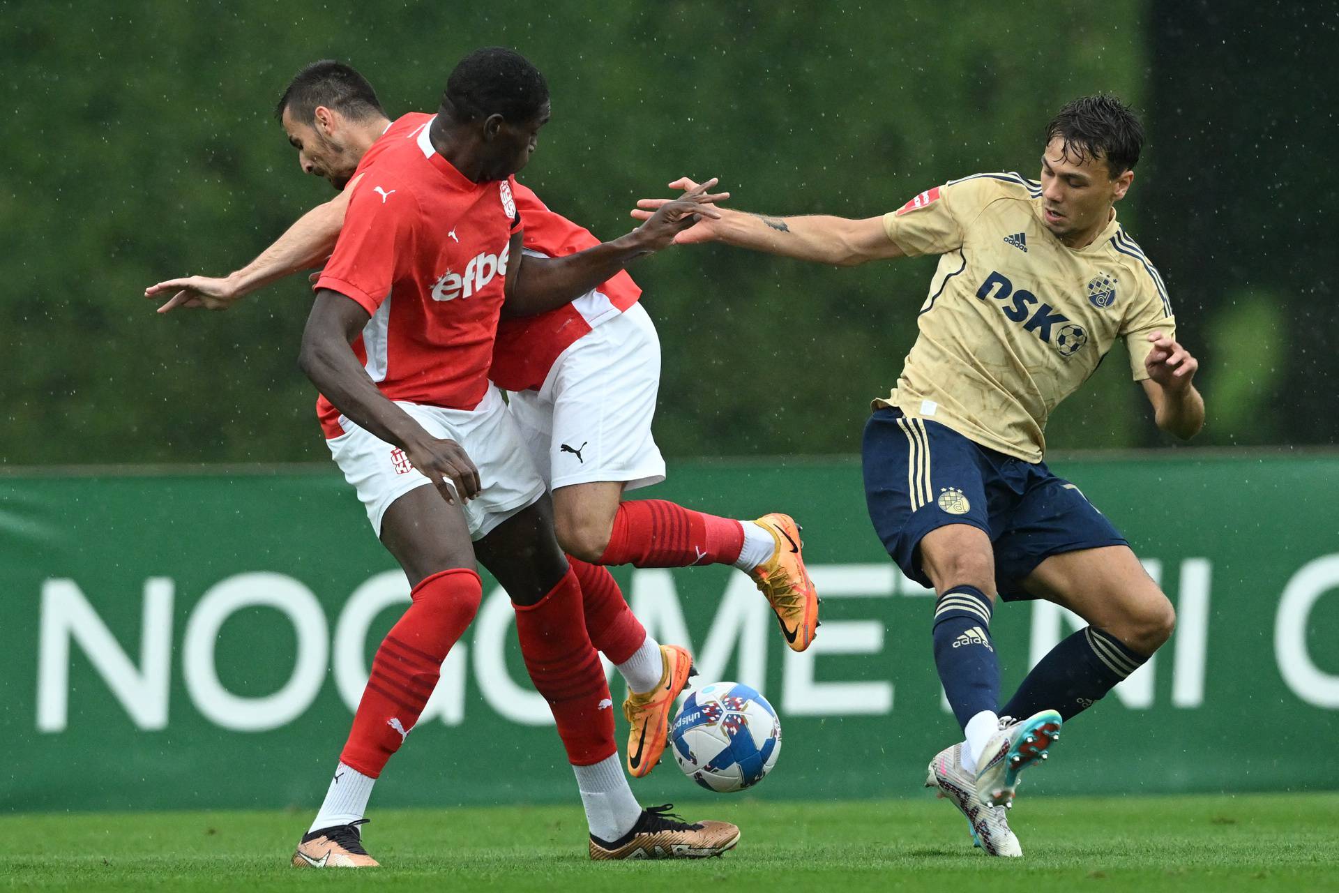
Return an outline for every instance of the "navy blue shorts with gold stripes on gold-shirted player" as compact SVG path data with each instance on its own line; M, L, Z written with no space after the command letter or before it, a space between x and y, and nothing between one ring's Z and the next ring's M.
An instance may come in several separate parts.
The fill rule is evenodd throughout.
M1050 556L1127 545L1101 511L1044 462L983 447L929 419L877 410L865 424L865 499L878 538L921 585L920 541L949 523L980 527L995 548L1006 601L1032 598L1022 581Z

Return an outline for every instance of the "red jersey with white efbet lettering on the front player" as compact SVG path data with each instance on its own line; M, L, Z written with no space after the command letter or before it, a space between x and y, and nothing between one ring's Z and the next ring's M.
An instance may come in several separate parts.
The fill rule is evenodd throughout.
M432 149L426 123L402 118L364 155L316 288L371 313L353 349L382 394L473 410L487 394L521 217L514 181L467 179ZM327 436L343 434L324 396L317 414Z

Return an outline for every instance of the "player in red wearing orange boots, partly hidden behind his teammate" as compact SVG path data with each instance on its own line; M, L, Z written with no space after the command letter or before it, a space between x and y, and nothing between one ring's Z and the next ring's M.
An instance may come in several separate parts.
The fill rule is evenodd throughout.
M237 273L151 287L150 297L173 295L161 311L222 309L320 262L343 225L360 165L431 119L408 114L391 122L366 79L329 60L299 72L277 112L304 173L324 177L341 191ZM600 244L525 186L517 183L513 197L525 221L526 253L562 257ZM628 683L627 759L639 777L651 771L664 750L664 736L648 731L665 727L691 657L683 648L661 647L647 636L613 578L597 565L734 564L767 596L791 648L806 648L818 623L817 593L789 517L740 522L665 501L621 502L625 490L664 479L664 461L651 435L660 348L637 303L640 293L619 272L576 301L541 315L507 317L511 308L505 307L490 370L490 378L511 392L510 411L554 494L558 542L581 582L590 639Z

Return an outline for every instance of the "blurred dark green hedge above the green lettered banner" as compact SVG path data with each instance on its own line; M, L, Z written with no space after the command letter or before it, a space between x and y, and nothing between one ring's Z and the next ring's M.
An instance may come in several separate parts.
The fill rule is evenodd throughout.
M1054 111L1117 92L1149 131L1119 212L1204 364L1197 443L1332 443L1336 24L1314 0L0 3L0 462L324 461L295 364L305 281L226 313L158 316L142 289L226 273L328 198L272 118L299 67L352 63L394 116L435 108L487 44L553 91L522 179L607 238L680 174L749 210L857 217L980 170L1035 177ZM857 451L932 269L715 246L636 265L664 451ZM1050 446L1161 443L1149 415L1113 359Z

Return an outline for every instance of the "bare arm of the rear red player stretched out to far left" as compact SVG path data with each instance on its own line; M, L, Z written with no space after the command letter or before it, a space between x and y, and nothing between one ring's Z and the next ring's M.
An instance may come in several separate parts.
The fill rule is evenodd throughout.
M349 195L356 185L358 179L353 179L335 198L303 214L273 245L240 270L222 277L170 278L146 288L145 297L162 299L171 293L171 299L158 308L159 313L178 307L225 311L238 299L270 282L297 270L319 266L335 249L339 230L344 225L344 212L348 210Z

